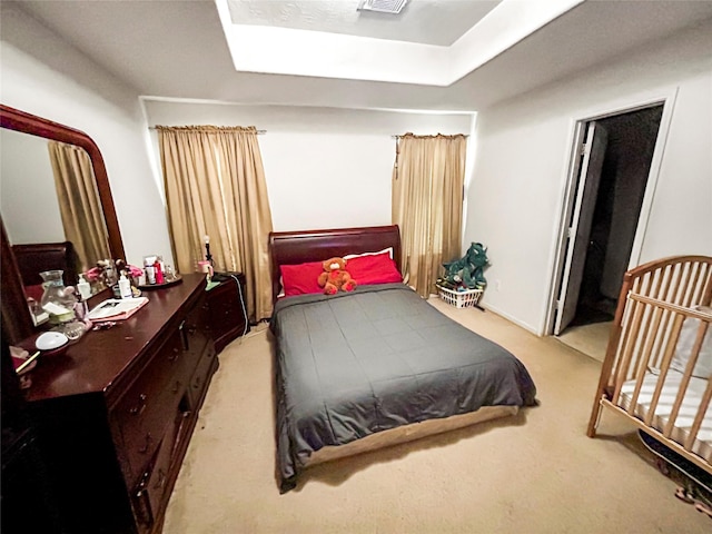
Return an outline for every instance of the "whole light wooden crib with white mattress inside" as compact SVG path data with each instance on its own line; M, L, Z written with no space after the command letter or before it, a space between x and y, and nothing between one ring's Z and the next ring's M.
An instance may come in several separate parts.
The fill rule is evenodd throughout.
M712 474L712 257L675 256L623 279L587 435L603 408Z

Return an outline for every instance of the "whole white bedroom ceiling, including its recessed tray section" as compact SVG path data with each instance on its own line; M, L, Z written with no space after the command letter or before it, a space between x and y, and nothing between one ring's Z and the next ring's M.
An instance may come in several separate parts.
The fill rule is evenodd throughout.
M144 97L435 111L478 110L712 19L712 1L684 0L409 0L400 18L358 0L2 4Z

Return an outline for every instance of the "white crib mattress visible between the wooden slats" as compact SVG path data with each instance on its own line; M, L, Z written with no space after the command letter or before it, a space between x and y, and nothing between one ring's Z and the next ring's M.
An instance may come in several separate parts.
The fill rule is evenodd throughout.
M635 406L635 415L644 418L645 414L650 411L651 400L657 379L660 376L656 373L647 372L643 379L643 386L637 397L637 404ZM682 382L682 373L674 369L668 372L665 383L663 385L660 400L655 409L655 415L652 419L652 426L663 432L670 414L672 413L672 405L675 402L675 396L680 390L680 384ZM688 390L680 407L680 413L675 419L675 427L673 428L671 437L678 443L684 443L690 435L690 428L694 421L695 413L700 403L702 402L702 395L708 386L708 380L704 378L692 377L688 386ZM629 380L623 384L621 388L621 406L627 409L631 405L631 397L635 388L635 380ZM702 419L700 432L698 432L696 439L692 446L692 452L703 457L708 463L712 463L712 404L708 406L708 409Z

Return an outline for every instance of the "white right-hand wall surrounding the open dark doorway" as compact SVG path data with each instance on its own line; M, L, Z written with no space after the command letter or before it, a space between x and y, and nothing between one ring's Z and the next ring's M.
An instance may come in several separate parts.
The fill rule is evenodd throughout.
M674 97L639 263L712 255L712 24L477 116L465 243L490 247L484 303L542 334L576 120Z

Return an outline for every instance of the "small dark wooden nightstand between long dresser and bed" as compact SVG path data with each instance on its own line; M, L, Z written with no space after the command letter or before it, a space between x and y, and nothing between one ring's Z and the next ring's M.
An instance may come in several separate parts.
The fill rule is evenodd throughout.
M228 343L249 332L247 295L241 273L221 273L214 280L218 285L208 291L208 310L215 349L220 354Z

